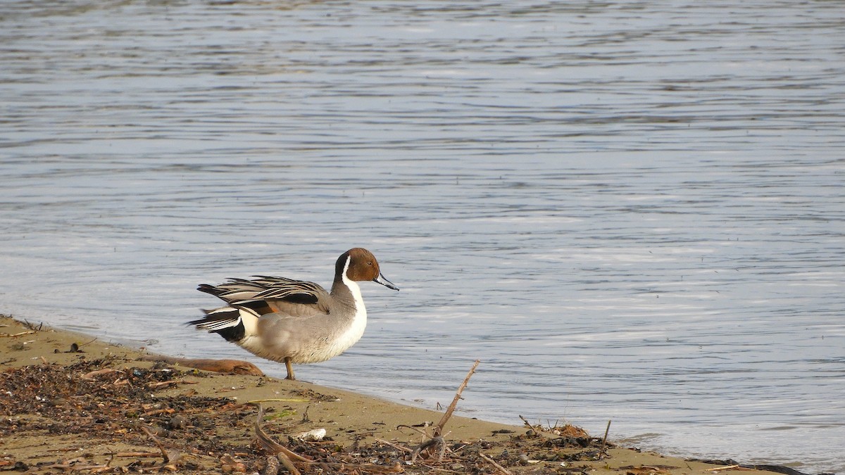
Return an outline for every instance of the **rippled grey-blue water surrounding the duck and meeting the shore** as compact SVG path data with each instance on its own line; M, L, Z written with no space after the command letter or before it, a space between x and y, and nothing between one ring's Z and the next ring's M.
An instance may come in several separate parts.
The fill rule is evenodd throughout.
M845 471L841 2L0 3L0 312L189 357L201 282L401 292L313 382ZM6 351L6 350L3 350Z

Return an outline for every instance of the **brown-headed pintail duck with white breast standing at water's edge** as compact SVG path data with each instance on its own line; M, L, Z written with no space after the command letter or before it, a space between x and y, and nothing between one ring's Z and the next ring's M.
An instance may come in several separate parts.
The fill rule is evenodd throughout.
M296 379L292 363L325 361L361 339L367 309L357 282L399 290L381 275L379 262L364 248L349 249L337 258L331 292L308 281L254 277L200 285L197 290L221 298L227 306L204 310L203 319L188 325L216 333L261 358L284 362L286 379Z

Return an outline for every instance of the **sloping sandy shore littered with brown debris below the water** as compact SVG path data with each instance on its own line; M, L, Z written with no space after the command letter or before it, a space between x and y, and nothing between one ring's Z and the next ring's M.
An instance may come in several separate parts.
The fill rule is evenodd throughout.
M268 451L257 440L255 401L264 407L260 429L308 459L292 462L303 473L703 475L721 467L616 447L612 437L602 450L603 434L572 427L458 416L446 421L441 445L432 426L444 412L145 358L91 336L0 317L0 471L275 472L280 458L271 452L280 449ZM258 372L248 364L229 369ZM324 429L322 440L289 437L315 429Z

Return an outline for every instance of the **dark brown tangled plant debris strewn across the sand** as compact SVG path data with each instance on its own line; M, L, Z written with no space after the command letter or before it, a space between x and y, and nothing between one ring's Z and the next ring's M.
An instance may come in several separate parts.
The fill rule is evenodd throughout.
M358 439L348 446L331 438L298 440L268 435L263 429L270 426L265 422L292 419L292 413L269 408L259 416L254 404L194 394L185 378L202 373L161 363L114 369L115 363L117 358L81 357L66 366L41 363L0 374L0 436L30 440L35 449L30 460L8 460L0 469L264 473L277 460L266 442L275 439L281 441L274 440L275 444L300 457L293 464L302 473L501 473L535 460L597 460L602 443L574 428L569 429L571 434L554 438L527 429L515 431L504 442L445 441L442 448L417 454L413 446L419 443L411 439L371 443ZM183 391L156 396L163 388ZM303 396L303 391L293 392L291 396ZM301 418L289 429L296 429L298 422ZM427 428L407 429L424 438ZM79 444L57 449L41 442L52 437L75 438ZM94 445L113 449L97 451ZM281 470L286 470L284 465Z

